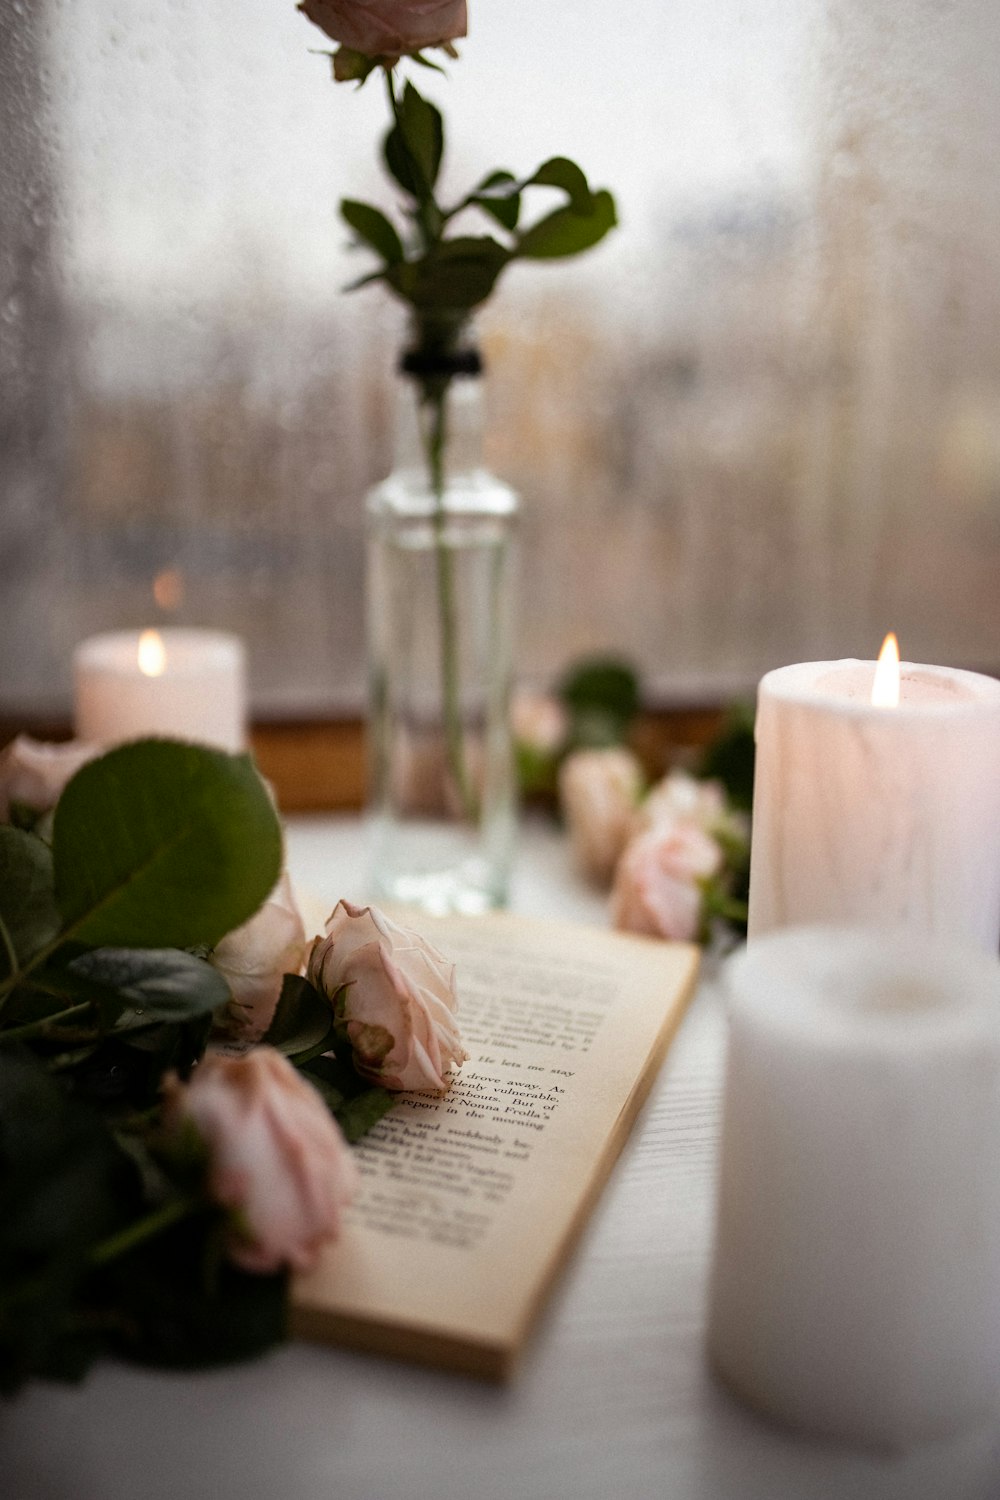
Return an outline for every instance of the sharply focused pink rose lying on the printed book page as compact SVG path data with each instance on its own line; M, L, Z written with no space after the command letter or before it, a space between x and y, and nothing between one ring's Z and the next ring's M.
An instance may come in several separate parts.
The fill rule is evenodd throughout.
M445 1094L465 1062L454 1018L454 964L376 906L340 902L316 938L307 976L346 1022L354 1065L385 1089Z

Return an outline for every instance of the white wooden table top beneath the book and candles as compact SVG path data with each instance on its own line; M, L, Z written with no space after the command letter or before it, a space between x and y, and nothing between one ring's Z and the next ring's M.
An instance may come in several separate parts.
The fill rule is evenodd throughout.
M304 888L364 896L357 822L292 819L288 848ZM541 826L523 838L513 906L606 921ZM1000 1424L859 1454L759 1420L708 1372L723 1056L703 984L511 1386L309 1344L196 1376L106 1362L82 1388L0 1402L0 1497L996 1500Z

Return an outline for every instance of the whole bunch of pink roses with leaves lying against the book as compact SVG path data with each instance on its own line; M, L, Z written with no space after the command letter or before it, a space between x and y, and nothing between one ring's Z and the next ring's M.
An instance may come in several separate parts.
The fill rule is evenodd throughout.
M111 1350L258 1353L285 1336L289 1274L340 1228L348 1140L393 1101L375 1080L444 1086L462 1056L438 1012L450 966L343 908L318 940L333 988L313 988L247 756L18 741L0 796L0 1389L79 1378ZM376 964L354 974L355 920L391 1004ZM331 1052L339 1032L366 1076L352 1046Z

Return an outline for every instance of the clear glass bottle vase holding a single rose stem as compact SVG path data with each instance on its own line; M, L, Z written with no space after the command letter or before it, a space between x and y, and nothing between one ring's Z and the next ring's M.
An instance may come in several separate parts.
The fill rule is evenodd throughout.
M372 884L424 910L504 906L517 495L481 460L465 340L400 363L397 456L367 498Z

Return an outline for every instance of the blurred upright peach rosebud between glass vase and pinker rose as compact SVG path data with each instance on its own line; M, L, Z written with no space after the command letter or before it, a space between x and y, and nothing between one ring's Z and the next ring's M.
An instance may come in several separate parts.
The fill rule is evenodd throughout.
M582 874L606 885L628 842L642 792L631 750L576 750L559 768L559 802Z

